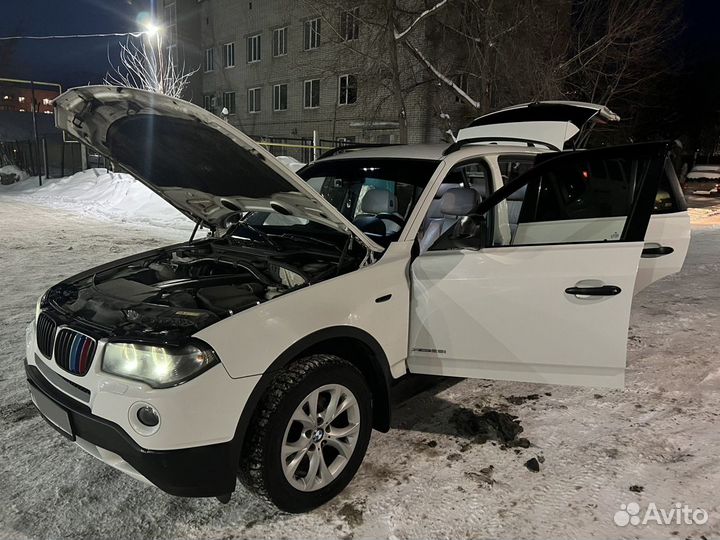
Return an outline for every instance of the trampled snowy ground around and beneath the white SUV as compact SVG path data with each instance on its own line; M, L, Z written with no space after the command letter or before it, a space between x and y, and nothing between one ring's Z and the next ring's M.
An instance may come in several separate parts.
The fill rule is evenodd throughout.
M440 381L398 405L389 433L373 434L348 489L295 516L242 488L228 505L167 496L96 462L39 418L22 367L37 296L187 231L0 192L0 538L717 537L720 228L712 222L720 214L693 215L707 226L693 232L683 273L635 299L625 390ZM455 419L484 408L517 415L532 446L473 442ZM529 471L524 463L539 456L540 471ZM617 527L613 515L630 502L686 503L710 521Z

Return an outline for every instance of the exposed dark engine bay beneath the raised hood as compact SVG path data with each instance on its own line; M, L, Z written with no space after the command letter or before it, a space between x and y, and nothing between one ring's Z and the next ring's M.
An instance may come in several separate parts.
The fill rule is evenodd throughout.
M290 243L277 250L232 237L208 239L70 278L50 289L45 302L97 337L181 343L221 319L361 262L352 249Z

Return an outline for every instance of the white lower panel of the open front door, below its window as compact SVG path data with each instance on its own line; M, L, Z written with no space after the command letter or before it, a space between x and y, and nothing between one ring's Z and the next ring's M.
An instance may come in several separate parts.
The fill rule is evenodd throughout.
M427 253L412 266L408 369L621 387L642 248L632 242ZM620 294L565 292L589 276Z

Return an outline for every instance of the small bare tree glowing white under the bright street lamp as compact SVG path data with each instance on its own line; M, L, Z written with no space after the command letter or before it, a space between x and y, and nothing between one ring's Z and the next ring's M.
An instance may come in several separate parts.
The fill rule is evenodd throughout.
M163 46L160 31L154 35L128 37L125 43L120 43L119 64L110 61L110 65L112 72L105 76L105 84L140 88L176 98L183 96L190 77L199 69L187 71L184 62L178 65L173 50Z

